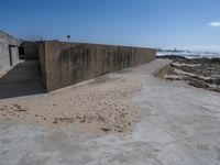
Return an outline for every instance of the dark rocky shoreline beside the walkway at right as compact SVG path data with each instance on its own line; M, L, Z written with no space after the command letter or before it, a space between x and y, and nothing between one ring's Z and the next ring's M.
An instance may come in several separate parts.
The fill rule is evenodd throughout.
M166 55L170 67L165 79L185 81L190 86L220 92L220 58L185 58L183 56Z

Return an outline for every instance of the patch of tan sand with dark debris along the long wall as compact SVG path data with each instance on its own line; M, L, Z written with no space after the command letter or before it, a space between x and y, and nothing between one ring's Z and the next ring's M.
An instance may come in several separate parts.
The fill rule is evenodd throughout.
M0 100L0 120L127 134L139 121L133 96L142 82L119 73L41 96Z

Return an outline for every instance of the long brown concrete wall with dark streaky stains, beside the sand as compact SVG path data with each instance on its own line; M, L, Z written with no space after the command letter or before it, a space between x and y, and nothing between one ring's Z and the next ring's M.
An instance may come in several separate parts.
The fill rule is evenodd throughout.
M48 91L148 63L155 50L95 44L43 42L40 62Z

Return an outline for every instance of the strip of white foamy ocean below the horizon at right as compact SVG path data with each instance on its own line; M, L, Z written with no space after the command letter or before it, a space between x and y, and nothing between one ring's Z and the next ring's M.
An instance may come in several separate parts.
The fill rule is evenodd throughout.
M157 51L157 56L177 55L186 58L220 58L220 53L198 51Z

